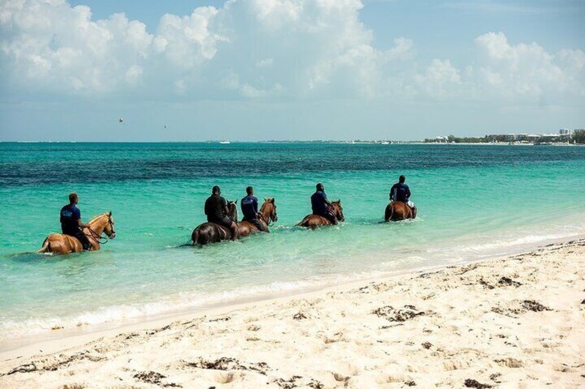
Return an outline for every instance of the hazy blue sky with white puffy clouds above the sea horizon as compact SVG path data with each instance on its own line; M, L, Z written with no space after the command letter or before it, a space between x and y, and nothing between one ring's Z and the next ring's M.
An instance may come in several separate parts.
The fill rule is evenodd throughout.
M0 140L584 128L584 20L582 0L0 0Z

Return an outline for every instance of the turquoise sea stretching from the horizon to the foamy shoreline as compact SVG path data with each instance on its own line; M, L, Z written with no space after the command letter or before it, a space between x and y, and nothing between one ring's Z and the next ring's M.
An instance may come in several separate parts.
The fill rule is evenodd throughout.
M585 233L585 148L352 144L0 144L0 342L232 304L408 269L511 253ZM419 208L380 224L405 174ZM324 182L346 222L306 231ZM275 197L270 234L181 247L212 185ZM99 252L26 253L59 231L79 193L83 220L112 211ZM0 345L1 348L1 345Z

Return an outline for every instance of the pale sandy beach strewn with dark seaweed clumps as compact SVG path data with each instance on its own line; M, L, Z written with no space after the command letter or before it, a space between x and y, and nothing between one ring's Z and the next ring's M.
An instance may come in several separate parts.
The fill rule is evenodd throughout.
M0 388L410 386L585 387L585 240L0 361Z

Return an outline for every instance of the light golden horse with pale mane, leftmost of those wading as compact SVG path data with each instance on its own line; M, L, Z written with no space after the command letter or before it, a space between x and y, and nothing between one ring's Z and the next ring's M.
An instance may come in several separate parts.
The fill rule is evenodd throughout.
M116 237L116 231L114 231L114 218L112 218L112 211L97 215L95 218L88 222L89 228L83 229L83 233L88 236L90 243L92 244L90 251L99 250L99 241L101 240L101 234L106 233L106 236L110 239ZM69 235L63 233L52 233L49 235L43 246L37 253L55 253L55 254L68 254L77 253L83 251L81 242Z

